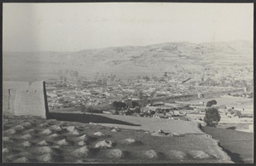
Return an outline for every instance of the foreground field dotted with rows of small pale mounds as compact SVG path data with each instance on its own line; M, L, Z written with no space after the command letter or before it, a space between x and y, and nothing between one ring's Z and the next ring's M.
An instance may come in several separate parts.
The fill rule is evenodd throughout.
M91 116L88 114L88 117ZM94 116L98 121L122 123L130 127L137 125L110 117ZM92 118L89 120L94 121ZM169 128L170 132L177 126ZM145 131L55 119L5 118L3 162L232 163L230 157L218 146L218 141L203 133L186 132L183 135L158 135L154 133L154 128Z

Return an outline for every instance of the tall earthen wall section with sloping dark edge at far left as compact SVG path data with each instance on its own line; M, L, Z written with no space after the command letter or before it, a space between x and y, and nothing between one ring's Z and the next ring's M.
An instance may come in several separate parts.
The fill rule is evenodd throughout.
M3 82L3 115L47 118L49 111L45 83Z

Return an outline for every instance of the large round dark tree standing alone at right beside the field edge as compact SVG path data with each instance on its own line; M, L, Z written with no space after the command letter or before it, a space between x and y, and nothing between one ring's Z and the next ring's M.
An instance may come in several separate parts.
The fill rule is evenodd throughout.
M206 109L206 115L204 117L204 122L207 126L216 127L216 124L220 121L220 115L216 107L211 107Z

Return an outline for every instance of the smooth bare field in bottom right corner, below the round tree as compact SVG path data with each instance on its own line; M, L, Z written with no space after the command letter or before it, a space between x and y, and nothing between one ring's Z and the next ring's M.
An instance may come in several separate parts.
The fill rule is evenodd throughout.
M235 163L253 163L253 133L211 127L201 129L212 135L213 139L219 140Z

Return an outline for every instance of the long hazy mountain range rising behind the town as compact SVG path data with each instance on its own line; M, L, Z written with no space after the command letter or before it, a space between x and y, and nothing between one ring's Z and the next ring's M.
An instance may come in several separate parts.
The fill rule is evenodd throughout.
M4 52L3 79L28 80L57 77L59 69L76 70L93 78L96 73L117 77L162 75L164 72L201 72L207 67L252 65L253 43L160 43L84 49L78 52Z

